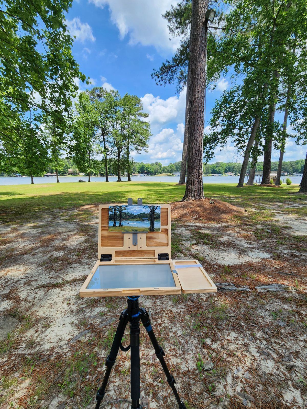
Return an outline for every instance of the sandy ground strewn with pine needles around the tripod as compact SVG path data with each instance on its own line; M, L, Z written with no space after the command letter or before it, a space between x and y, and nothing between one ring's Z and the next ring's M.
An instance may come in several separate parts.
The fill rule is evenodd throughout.
M218 292L140 304L187 409L306 408L307 219L225 208L197 221L177 208L172 230L172 258L198 258ZM97 259L97 215L85 206L1 226L1 409L95 406L126 307L124 297L78 295ZM129 357L119 353L102 407L130 407ZM177 407L144 328L141 396L146 408Z

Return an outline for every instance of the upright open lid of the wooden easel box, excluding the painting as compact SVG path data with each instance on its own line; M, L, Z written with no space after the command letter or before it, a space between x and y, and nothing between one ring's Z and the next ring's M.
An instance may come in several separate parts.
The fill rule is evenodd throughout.
M102 256L106 260L107 258L159 259L161 255L166 257L166 254L168 258L171 258L170 205L158 205L161 207L160 231L148 231L147 233L109 231L109 206L116 206L116 204L99 206L98 260L102 259ZM126 206L126 204L118 206Z

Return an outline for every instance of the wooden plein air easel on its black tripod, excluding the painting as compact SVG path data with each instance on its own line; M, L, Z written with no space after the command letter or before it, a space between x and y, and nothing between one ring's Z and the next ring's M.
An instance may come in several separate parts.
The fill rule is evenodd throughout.
M138 205L143 206L142 199L138 199ZM128 206L124 207L129 206L132 206L132 199L128 199ZM140 405L140 320L147 330L179 409L186 409L176 390L174 377L169 373L165 363L165 353L153 333L148 312L139 307L138 299L142 294L165 295L217 291L197 260L172 261L170 258L170 206L148 206L160 208L160 225L155 231L119 231L116 227L112 229L109 222L109 206L99 206L98 260L79 294L81 297L128 295L128 306L120 315L111 351L106 360L104 379L96 394L96 409L99 408L104 397L119 349L122 351L130 349L131 409L142 409ZM114 211L114 206L111 207ZM124 230L124 227L122 229ZM122 287L118 288L118 284ZM122 337L128 323L130 344L124 347Z

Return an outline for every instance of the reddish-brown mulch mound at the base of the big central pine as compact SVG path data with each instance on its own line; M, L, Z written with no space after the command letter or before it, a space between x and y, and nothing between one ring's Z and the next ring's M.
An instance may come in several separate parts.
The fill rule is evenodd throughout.
M211 203L210 203L211 202ZM221 200L193 200L192 202L171 203L172 220L184 222L223 222L234 215L244 212L241 207L230 205Z

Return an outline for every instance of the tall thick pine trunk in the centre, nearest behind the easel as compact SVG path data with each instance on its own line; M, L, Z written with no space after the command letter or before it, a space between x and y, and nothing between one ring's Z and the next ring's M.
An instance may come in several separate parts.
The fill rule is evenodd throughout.
M189 61L189 124L187 142L187 183L184 200L203 199L203 126L205 113L205 70L208 0L192 1Z

